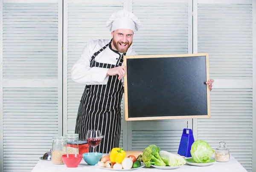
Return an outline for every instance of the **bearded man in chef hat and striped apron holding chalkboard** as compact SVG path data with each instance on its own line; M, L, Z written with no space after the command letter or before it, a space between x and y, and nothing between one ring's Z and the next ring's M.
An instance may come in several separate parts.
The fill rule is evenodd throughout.
M96 152L108 153L119 146L121 130L122 78L125 66L124 55L137 55L132 44L134 32L140 28L140 20L129 11L113 13L107 27L111 40L93 40L87 43L74 64L71 77L85 84L76 119L75 133L86 139L87 131L98 129L105 137ZM209 80L210 89L212 80Z

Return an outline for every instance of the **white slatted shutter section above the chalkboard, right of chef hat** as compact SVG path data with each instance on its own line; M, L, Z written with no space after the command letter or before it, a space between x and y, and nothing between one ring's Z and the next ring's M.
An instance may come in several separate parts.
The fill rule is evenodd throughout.
M139 54L188 53L188 0L133 0L133 13L142 27L133 48Z

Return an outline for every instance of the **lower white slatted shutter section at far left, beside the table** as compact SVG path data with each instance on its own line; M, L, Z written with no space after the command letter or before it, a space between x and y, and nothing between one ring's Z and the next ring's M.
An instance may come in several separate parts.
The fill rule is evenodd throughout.
M4 172L30 172L58 134L58 88L3 88Z

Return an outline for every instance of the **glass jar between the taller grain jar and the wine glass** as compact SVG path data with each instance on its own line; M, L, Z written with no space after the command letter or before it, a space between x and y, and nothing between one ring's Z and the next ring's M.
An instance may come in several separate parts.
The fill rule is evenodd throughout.
M67 154L79 154L79 134L65 134L67 138Z

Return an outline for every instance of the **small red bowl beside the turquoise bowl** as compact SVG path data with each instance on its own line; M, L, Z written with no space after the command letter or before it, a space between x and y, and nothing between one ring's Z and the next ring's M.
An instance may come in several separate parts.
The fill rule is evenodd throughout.
M65 154L61 158L68 168L75 168L81 162L83 156L80 154Z

